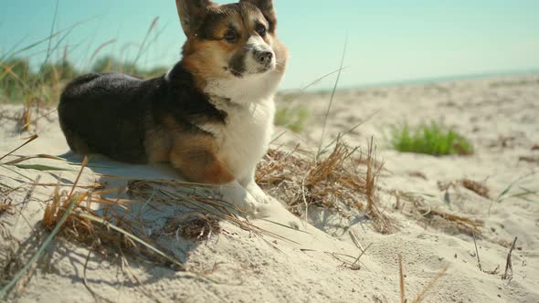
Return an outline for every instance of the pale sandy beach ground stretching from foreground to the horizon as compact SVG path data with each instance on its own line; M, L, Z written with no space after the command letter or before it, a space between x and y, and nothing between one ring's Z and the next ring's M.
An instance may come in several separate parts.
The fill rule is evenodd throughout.
M103 194L112 202L130 193L138 198L138 203L118 203L131 215L130 224L136 223L137 235L183 270L140 248L128 250L120 243L125 235L102 239L97 246L69 229L71 234L60 232L52 239L6 301L398 302L400 255L408 302L539 302L539 197L521 194L539 189L538 75L338 90L324 130L330 95L305 93L295 99L294 104L309 109L303 131L278 128L272 148L316 151L344 134L341 141L366 152L372 139L376 160L384 163L375 183L377 207L391 222L390 231L376 230L375 220L361 209L340 214L312 206L297 219L299 230L287 226L291 214L248 224L209 218L195 206L159 203L153 200L155 192L133 197L133 180L175 180L166 165L130 165L98 156L83 170L75 191L125 188ZM32 111L32 116L49 110ZM70 162L38 157L4 165L20 156L69 151L56 112L21 131L22 111L22 105L0 105L0 157L39 136L0 161L0 206L5 205L0 207L0 287L46 241L52 228L42 220L55 201L55 185L69 193L80 169L75 164L81 159L74 155L68 155ZM464 135L474 153L435 157L390 148L392 126L429 120ZM364 166L358 167L365 173ZM473 184L487 192L471 190ZM174 183L164 187L176 190ZM264 188L274 195L280 191L268 184ZM280 202L290 208L290 201ZM96 214L105 212L97 204L81 204ZM121 219L115 222L127 228ZM202 228L189 239L185 225L199 222Z

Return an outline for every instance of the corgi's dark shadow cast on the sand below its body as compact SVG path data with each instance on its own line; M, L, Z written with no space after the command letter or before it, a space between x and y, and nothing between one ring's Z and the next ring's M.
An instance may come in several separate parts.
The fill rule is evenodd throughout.
M59 157L72 163L82 162L81 156L70 151ZM167 196L167 193L179 191L188 199L190 194L197 194L198 188L180 187L174 184L164 185L159 189L148 186L148 184L160 182L181 183L182 180L178 178L177 172L170 166L135 165L94 155L90 157L88 170L95 173L96 183L104 186L100 189L103 193L102 197L116 202L110 205L92 204L95 214L101 217L113 217L114 219L110 222L112 225L131 232L181 264L187 262L190 252L199 244L211 241L214 235L220 233L217 217L205 214L200 208L190 207L189 202L176 201L177 196L174 194ZM137 246L140 246L140 243ZM117 247L105 247L105 249L109 248L117 249ZM80 256L77 256L76 251L67 248L59 251L64 252L65 255L62 257L72 260L70 262L74 268L76 264L81 266ZM131 256L132 266L150 274L146 280L141 281L143 284L153 283L165 277L175 277L171 268L180 271L184 269L174 266L158 254L148 257L148 255L140 254L138 249L132 249L131 254L127 253L130 252L126 252L126 256ZM100 257L92 254L90 262L102 262ZM106 261L111 262L111 260ZM164 274L164 272L169 274ZM73 279L78 280L80 277L74 275ZM117 282L99 281L99 283L111 283L111 286L114 286ZM123 286L129 287L125 284Z

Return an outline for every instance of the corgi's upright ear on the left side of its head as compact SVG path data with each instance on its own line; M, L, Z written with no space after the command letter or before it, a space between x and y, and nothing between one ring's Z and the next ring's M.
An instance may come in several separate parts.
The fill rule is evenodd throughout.
M192 37L204 22L208 9L215 5L210 0L176 0L178 16L185 35Z

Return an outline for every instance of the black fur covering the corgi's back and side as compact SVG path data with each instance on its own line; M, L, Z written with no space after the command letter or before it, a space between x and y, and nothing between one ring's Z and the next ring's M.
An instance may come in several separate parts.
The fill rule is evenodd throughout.
M170 118L186 133L203 133L196 123L227 117L196 89L182 62L166 77L148 80L119 73L76 78L60 97L58 115L72 151L138 163L148 162L148 133L169 133L161 130Z

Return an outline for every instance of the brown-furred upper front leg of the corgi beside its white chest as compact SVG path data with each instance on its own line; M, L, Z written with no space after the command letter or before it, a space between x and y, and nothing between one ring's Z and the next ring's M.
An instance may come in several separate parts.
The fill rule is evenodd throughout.
M217 148L209 135L178 136L170 152L170 162L194 183L226 184L235 177L217 158Z

